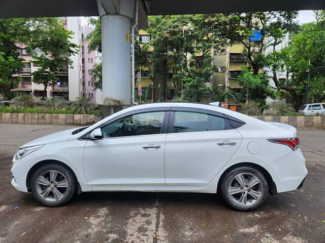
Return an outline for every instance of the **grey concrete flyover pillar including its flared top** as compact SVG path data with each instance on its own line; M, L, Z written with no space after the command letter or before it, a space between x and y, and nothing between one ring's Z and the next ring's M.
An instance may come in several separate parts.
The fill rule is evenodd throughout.
M106 105L131 105L131 28L136 12L139 13L138 27L148 27L145 8L138 3L136 0L97 0L102 19L102 96Z

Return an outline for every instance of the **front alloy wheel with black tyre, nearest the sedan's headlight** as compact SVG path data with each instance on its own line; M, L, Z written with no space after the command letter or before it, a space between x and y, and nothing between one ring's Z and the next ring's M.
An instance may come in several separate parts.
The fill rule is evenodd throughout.
M31 177L31 192L41 204L57 207L67 204L76 192L76 181L65 167L50 164L37 169Z

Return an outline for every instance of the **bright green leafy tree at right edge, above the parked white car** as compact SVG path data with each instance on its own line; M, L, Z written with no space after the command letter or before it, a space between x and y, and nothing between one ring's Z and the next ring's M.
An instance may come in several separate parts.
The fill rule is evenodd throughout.
M296 110L304 103L307 90L307 70L311 72L310 102L321 102L325 99L325 22L308 23L301 26L299 33L290 38L290 45L281 50L275 58L277 70L287 70L287 82L276 83L277 88L284 90L286 98Z

